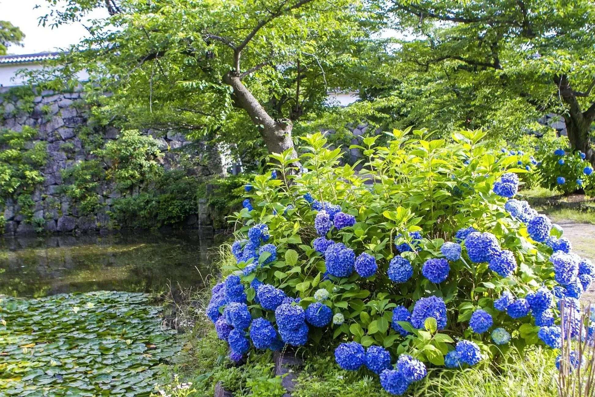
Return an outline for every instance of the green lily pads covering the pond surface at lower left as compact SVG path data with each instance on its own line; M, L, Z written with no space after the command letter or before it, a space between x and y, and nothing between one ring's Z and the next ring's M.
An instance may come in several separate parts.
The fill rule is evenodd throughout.
M3 298L0 390L27 396L149 393L162 360L181 345L161 329L148 295L90 292ZM35 332L42 324L43 332Z

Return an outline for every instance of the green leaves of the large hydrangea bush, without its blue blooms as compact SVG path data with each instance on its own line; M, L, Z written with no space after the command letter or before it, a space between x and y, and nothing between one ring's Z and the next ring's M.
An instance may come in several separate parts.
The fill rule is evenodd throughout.
M525 296L540 285L555 285L552 265L547 261L552 250L531 240L525 225L504 210L506 199L491 191L502 173L525 170L515 168L515 156L488 151L481 140L484 132L461 131L451 142L429 140L430 135L427 130L412 134L394 130L388 146L375 146L376 137L365 138L357 147L368 159L358 174L350 165L338 165L340 149L328 149L320 133L304 138L305 154L300 161L312 170L308 173L289 172L289 153L271 155L275 164L281 164L278 178L271 179L271 173L256 176L254 190L248 194L255 210L243 209L236 213L235 221L238 240L253 224L267 224L271 235L268 242L277 246L277 260L264 264L267 255L262 254L258 258L261 265L248 276L242 274L246 262L226 268L242 275L245 283L258 277L289 296L299 296L302 307L314 302L317 289L331 292L324 303L346 320L340 326L331 324L324 332L312 329L309 336L314 348L355 340L364 346L384 346L394 357L407 353L441 365L456 337L474 340L484 355L496 358L502 348L497 348L487 333L474 334L467 326L478 308L492 315L494 327L511 333L511 343L503 349L516 346L522 351L540 344L537 328L528 318L514 320L493 308L493 300L504 290ZM345 243L356 255L373 255L378 263L374 276L364 279L353 273L349 277L324 277L324 258L311 245L316 237L312 224L317 211L302 199L307 192L321 202L340 205L343 212L356 218L352 227L335 229L330 237ZM288 208L289 204L294 208ZM280 215L285 210L286 214ZM502 249L515 254L518 270L509 277L499 276L486 263L472 263L464 251L461 260L450 262L446 281L434 284L422 277L424 262L443 257L441 245L469 226L493 233ZM418 251L400 254L411 261L414 276L406 283L393 283L386 273L389 261L399 255L393 243L411 243L409 233L418 231L423 235ZM446 302L448 325L444 331L437 330L433 321L427 321L425 329L410 329L411 335L405 337L389 328L396 305L411 310L418 299L429 295ZM275 321L274 315L261 310L253 298L254 292L249 289L253 316Z

